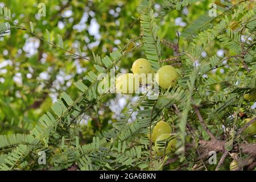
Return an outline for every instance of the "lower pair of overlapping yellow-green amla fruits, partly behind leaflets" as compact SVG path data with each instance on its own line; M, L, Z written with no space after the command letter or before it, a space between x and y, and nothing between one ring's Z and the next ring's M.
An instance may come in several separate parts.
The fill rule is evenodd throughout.
M150 134L148 134L148 138L150 138ZM177 139L172 136L172 128L167 122L156 123L151 133L151 141L155 144L156 154L160 156L175 152Z

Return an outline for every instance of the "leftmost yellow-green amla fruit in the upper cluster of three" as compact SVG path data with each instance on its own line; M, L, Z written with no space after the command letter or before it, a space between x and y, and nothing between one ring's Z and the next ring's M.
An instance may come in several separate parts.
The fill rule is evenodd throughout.
M133 73L126 73L115 79L115 90L118 93L129 94L135 93L139 88L139 77Z

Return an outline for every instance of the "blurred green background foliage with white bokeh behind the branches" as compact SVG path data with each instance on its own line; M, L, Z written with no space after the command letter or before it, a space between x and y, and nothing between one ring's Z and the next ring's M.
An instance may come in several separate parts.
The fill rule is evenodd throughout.
M46 5L46 16L38 15L38 5L42 2ZM177 43L177 32L182 32L193 20L205 14L211 2L222 6L220 1L203 1L163 15L163 6L168 1L156 1L154 11L159 27L158 35L161 39ZM46 32L49 31L55 44L59 34L65 49L77 52L80 45L82 56L92 60L92 52L104 57L118 49L118 46L125 46L127 39L140 35L137 10L140 3L138 0L1 0L0 6L11 9L14 22L20 26L30 29L29 22L32 22L36 35L46 38ZM186 39L180 38L179 45L182 51L187 46ZM174 57L170 48L162 46L162 52L162 59ZM229 51L229 55L226 55L225 47L216 41L205 49L202 56L216 53L219 57L236 54L231 52L230 55ZM72 83L78 80L86 82L85 75L94 67L88 60L66 59L64 55L67 55L65 51L50 46L24 30L14 28L9 35L0 39L1 134L28 133L63 91L74 100L78 97ZM131 64L139 57L145 57L142 48L122 59L116 67L117 72L130 72ZM224 77L226 69L230 68L217 68L209 74ZM212 89L218 92L221 87L215 85ZM115 122L118 114L125 109L128 100L134 99L118 94L105 97L82 119L81 123L86 124L83 125L82 137L91 140L95 133L110 127L110 123Z

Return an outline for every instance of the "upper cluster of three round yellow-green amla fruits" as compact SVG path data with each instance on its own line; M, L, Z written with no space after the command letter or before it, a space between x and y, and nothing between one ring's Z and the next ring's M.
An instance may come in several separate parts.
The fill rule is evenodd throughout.
M177 83L178 73L171 65L164 65L155 74L151 64L144 58L134 61L131 68L133 73L122 74L115 80L115 89L119 93L135 93L139 89L139 84L151 84L156 77L157 84L164 89L172 88Z

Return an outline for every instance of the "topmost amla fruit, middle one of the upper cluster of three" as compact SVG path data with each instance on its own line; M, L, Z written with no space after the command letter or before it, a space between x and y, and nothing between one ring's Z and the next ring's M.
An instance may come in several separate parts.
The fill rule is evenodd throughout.
M148 60L144 58L139 58L133 62L131 70L133 71L133 73L138 73L140 75L141 73L151 73L152 68Z

